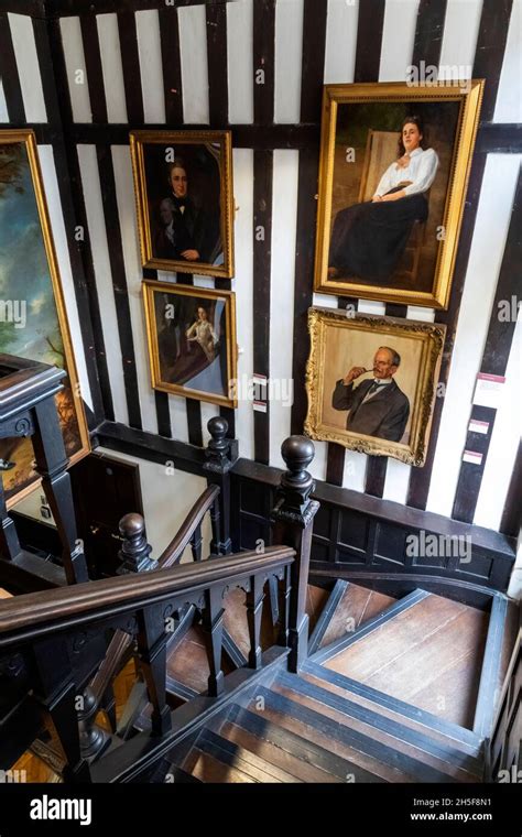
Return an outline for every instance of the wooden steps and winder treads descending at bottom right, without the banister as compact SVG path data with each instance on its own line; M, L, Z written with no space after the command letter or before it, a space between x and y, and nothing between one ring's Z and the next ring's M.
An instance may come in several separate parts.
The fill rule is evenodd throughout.
M188 746L170 753L159 781L483 781L483 739L472 717L488 615L425 590L395 600L345 580L329 596L309 587L307 600L315 627L300 672L283 664L227 706ZM402 691L411 700L399 696L404 665ZM418 705L429 670L435 692L443 678L453 694L455 674L469 706L449 702L429 711ZM471 721L456 722L452 714Z

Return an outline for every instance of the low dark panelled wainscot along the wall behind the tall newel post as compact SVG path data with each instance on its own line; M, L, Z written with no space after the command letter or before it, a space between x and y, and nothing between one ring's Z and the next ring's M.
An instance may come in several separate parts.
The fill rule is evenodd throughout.
M238 499L235 548L253 548L254 539L267 535L281 471L239 459L231 477L232 496ZM460 589L460 583L507 589L516 552L514 539L327 482L317 481L313 496L322 504L320 525L313 535L313 572L341 577L342 567L351 565L370 573L366 581L373 575L378 579L382 574L390 578L390 574L409 573L409 589L414 589L415 578L422 576L433 579L435 587L429 589L434 591L437 585L444 591L444 579L452 580L456 598L466 600L469 593L470 604L480 607L485 606L483 596L477 589ZM436 539L431 539L433 535ZM437 554L432 556L432 551Z

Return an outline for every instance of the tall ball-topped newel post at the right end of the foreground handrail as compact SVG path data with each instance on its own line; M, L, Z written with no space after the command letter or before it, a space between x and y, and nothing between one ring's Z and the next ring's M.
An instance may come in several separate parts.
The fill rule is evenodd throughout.
M289 436L281 446L281 455L287 470L281 477L275 494L272 521L273 543L292 546L295 561L291 570L289 619L289 668L297 672L304 663L308 646L308 616L306 613L306 588L308 584L309 553L314 517L319 509L317 500L311 499L315 483L306 470L315 449L306 436Z

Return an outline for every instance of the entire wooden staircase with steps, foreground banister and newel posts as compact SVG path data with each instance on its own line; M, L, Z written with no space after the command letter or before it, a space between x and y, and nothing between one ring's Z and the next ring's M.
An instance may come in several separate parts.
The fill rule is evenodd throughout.
M211 422L218 468L226 425ZM509 769L518 607L433 575L339 567L311 586L313 447L293 436L282 455L262 553L231 554L228 492L210 482L156 562L131 513L121 577L1 602L0 769L37 759L73 783L334 784Z

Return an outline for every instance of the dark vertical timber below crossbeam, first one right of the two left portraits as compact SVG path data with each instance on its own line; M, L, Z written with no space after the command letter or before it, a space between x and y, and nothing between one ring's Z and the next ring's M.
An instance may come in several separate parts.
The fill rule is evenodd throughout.
M270 378L270 270L272 254L273 152L253 152L253 371ZM270 403L267 412L254 411L255 460L270 458Z

